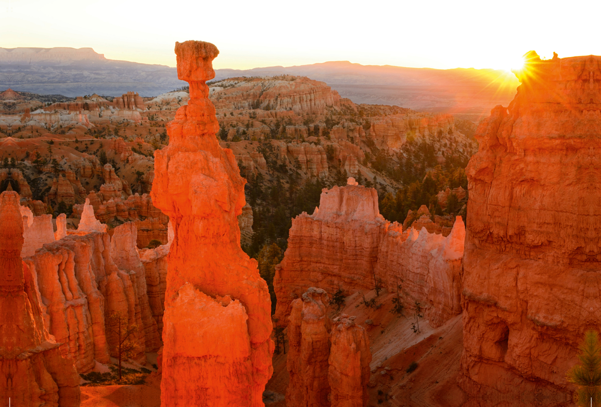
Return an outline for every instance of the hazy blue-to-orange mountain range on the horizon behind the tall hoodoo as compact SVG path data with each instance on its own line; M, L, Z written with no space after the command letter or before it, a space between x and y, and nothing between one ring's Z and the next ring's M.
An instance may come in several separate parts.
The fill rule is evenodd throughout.
M321 80L355 103L396 104L412 109L482 113L507 105L516 77L492 69L406 68L331 61L293 67L218 69L216 79L294 74ZM115 61L91 48L0 48L0 91L40 94L154 96L187 85L165 65Z

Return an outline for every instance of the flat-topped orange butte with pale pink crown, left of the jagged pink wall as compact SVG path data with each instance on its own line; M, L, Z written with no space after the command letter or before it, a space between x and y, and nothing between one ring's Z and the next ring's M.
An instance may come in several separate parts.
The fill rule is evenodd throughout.
M351 181L352 180L352 181ZM374 265L387 222L373 188L349 185L323 190L319 209L292 220L288 249L276 266L275 315L285 323L291 302L314 286L328 292L374 288Z

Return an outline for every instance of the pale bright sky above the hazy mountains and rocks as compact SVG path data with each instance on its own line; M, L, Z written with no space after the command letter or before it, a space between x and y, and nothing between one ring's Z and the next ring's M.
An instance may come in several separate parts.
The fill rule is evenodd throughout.
M529 50L601 55L599 2L0 0L0 47L92 47L175 66L175 41L215 44L215 68L351 61L495 68Z

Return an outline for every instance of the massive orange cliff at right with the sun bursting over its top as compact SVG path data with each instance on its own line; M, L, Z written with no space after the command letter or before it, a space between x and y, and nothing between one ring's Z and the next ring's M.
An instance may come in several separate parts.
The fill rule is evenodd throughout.
M601 56L525 58L466 171L460 384L474 406L569 405L566 371L601 323Z

